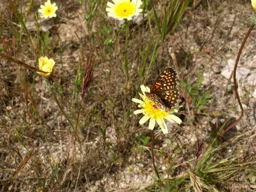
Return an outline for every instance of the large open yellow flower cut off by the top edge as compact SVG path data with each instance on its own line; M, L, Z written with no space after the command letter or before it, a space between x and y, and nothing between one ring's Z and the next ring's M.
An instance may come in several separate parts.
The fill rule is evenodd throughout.
M141 0L112 0L113 3L107 3L108 17L113 17L118 20L131 20L134 15L139 15L142 12L140 6Z

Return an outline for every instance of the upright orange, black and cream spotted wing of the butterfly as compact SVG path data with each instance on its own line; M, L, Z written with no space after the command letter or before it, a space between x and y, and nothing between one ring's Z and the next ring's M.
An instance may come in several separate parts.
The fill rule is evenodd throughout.
M169 108L175 106L179 99L177 74L173 68L167 68L160 74L150 87L150 92L156 94Z

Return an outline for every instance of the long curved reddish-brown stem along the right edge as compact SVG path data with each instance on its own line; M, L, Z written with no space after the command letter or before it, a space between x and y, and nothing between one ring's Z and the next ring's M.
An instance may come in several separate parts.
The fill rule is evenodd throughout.
M239 94L238 94L237 86L236 86L236 69L237 69L237 65L238 65L238 62L239 62L241 53L242 53L242 51L243 51L244 45L245 45L245 43L246 43L246 41L247 41L247 38L248 38L249 35L251 34L251 31L252 31L253 27L254 27L254 25L251 25L251 27L249 28L249 30L247 31L247 33L246 33L246 35L245 35L245 37L244 37L244 40L243 40L243 42L242 42L242 44L241 44L241 47L240 47L240 49L239 49L239 51L238 51L238 53L237 53L236 63L235 63L234 71L233 71L234 92L235 92L235 95L236 95L237 102L239 103L239 106L240 106L240 108L241 108L241 115L240 115L240 117L239 117L234 123L232 123L231 125L229 125L229 126L227 127L227 129L223 130L222 133L221 133L221 135L225 134L227 131L229 131L231 128L233 128L233 127L242 119L242 117L243 117L243 115L244 115L244 108L243 108L242 102L241 102L241 100L240 100L240 98L239 98Z

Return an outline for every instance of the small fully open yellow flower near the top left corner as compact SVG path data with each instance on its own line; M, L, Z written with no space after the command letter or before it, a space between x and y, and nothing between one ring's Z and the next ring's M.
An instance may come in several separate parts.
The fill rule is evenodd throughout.
M56 11L58 10L58 6L56 6L56 3L51 4L51 0L47 0L47 2L44 3L44 5L40 6L41 9L38 9L38 12L41 14L41 18L47 19L56 17Z

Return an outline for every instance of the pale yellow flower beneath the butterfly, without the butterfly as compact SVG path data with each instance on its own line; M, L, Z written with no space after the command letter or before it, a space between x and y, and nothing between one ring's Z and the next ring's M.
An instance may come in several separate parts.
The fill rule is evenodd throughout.
M139 124L144 124L149 119L149 127L148 129L153 130L155 127L155 124L157 123L164 134L168 133L167 126L165 124L165 119L171 123L178 123L181 124L182 121L179 117L173 115L173 113L177 113L179 108L182 106L179 106L178 103L176 106L172 107L169 110L164 110L162 108L157 108L156 103L154 103L152 100L150 100L147 97L147 93L150 93L149 87L145 85L141 85L140 89L142 91L142 94L140 94L140 97L142 100L133 98L132 101L139 103L139 106L141 109L135 110L133 113L135 115L142 113L144 116L140 119Z

